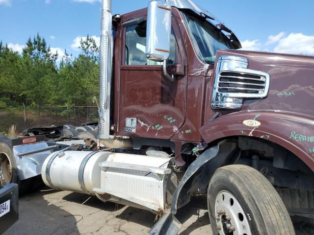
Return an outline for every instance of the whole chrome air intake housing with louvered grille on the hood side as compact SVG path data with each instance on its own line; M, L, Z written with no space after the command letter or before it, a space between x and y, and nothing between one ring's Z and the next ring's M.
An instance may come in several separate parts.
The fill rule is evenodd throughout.
M244 99L265 98L269 90L268 73L248 69L245 57L220 55L215 65L211 97L212 109L241 109Z

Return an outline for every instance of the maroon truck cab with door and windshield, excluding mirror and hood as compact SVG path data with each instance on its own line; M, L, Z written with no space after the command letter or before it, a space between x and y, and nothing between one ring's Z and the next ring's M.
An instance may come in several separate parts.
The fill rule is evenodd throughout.
M115 135L200 142L199 128L206 116L215 113L206 102L212 92L216 51L237 47L192 10L173 7L171 12L168 74L163 71L164 62L146 58L147 9L122 15L116 24ZM127 118L136 119L136 126L126 126Z

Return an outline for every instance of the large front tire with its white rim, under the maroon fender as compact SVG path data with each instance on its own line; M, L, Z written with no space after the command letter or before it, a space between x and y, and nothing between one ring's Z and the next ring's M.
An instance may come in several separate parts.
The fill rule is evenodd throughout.
M295 235L275 188L252 167L218 168L209 182L207 200L213 235Z

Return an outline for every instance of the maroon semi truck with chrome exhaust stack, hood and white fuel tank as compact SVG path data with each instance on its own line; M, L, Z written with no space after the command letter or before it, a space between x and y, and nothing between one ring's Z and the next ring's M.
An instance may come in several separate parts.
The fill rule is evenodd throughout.
M190 0L101 14L97 147L53 152L46 185L163 215L150 234L177 234L193 194L215 235L293 235L290 216L313 217L314 57L240 50Z

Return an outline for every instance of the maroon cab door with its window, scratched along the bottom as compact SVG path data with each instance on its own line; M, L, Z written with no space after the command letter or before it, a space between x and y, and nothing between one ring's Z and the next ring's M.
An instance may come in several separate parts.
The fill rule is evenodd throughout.
M170 139L185 118L187 63L176 20L172 17L167 70L174 72L180 68L182 75L175 75L174 81L163 74L162 63L145 56L146 20L124 27L121 38L117 134Z

